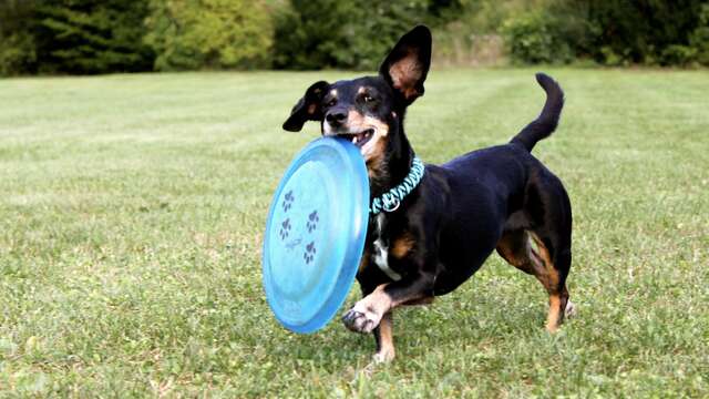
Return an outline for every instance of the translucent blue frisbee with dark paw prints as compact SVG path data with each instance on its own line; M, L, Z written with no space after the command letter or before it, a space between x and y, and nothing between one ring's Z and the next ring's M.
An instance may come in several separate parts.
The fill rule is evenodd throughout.
M268 212L263 273L278 321L296 332L322 328L338 311L364 247L369 177L359 149L322 137L290 163Z

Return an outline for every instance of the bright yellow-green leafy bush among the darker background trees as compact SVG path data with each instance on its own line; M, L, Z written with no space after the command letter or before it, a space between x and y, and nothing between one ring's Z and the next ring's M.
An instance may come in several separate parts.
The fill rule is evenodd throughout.
M264 1L153 0L150 8L145 42L158 71L269 64L273 28Z

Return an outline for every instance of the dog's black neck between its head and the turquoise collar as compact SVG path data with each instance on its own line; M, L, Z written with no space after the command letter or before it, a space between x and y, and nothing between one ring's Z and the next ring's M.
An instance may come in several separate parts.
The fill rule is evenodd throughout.
M371 198L381 196L401 184L411 170L414 156L413 149L403 132L403 123L399 123L397 127L395 132L389 133L381 162L379 165L371 166L377 168L376 171L370 170L369 192Z

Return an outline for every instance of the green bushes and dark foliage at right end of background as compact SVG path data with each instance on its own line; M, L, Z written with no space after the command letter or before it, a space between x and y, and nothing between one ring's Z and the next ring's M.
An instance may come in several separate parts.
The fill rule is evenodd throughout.
M516 62L687 65L698 61L707 42L700 12L706 0L546 0L537 6L503 23Z

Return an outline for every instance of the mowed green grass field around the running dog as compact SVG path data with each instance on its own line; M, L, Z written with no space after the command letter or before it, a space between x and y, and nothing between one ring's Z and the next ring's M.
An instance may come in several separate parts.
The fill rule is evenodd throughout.
M534 72L432 71L418 154L506 142ZM709 73L547 72L567 102L534 154L572 198L576 317L547 334L542 286L493 255L395 313L387 366L337 319L286 331L260 283L270 196L318 135L280 124L356 73L1 80L0 396L709 396Z

